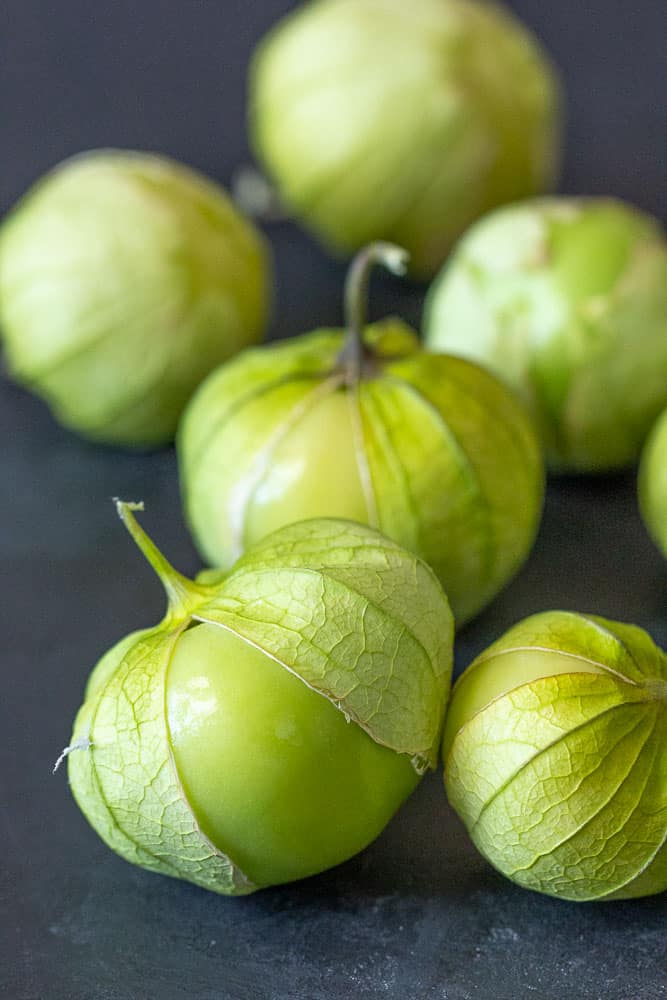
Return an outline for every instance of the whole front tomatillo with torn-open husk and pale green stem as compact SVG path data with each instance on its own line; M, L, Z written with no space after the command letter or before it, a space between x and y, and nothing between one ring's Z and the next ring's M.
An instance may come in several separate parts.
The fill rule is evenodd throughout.
M91 674L65 751L82 811L126 860L225 894L356 854L437 762L453 623L433 572L321 519L195 582L137 507L118 503L168 611Z

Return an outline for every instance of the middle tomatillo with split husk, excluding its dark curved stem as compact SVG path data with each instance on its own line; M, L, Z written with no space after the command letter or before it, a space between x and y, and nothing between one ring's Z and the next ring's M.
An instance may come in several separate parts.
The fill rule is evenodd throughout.
M195 541L226 568L301 518L370 524L433 567L460 626L535 538L543 466L530 419L495 378L421 352L394 320L367 329L379 357L350 388L342 340L316 331L247 351L201 387L178 436Z

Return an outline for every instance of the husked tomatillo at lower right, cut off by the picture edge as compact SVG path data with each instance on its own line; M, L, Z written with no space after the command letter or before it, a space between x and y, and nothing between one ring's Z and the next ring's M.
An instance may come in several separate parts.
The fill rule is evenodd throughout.
M578 901L667 889L667 654L641 629L544 612L454 687L445 786L518 885Z

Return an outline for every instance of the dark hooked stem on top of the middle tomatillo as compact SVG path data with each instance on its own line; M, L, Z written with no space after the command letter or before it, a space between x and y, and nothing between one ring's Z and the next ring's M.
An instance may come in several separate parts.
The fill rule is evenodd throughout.
M367 349L364 345L364 327L368 307L368 286L371 271L382 264L392 274L405 274L410 255L395 243L369 243L360 250L350 264L345 281L345 325L347 336L340 353L339 364L345 370L348 383L361 378Z

